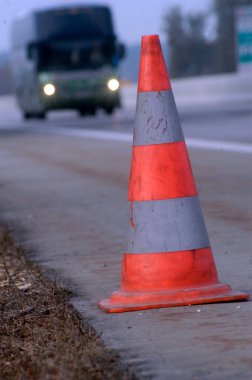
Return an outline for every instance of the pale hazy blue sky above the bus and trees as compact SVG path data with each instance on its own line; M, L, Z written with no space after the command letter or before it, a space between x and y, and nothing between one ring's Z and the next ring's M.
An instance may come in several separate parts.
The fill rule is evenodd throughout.
M9 28L16 15L53 4L107 4L112 7L119 38L126 44L139 43L144 34L160 34L162 20L169 7L179 5L185 11L207 10L210 0L0 0L0 51L8 49Z

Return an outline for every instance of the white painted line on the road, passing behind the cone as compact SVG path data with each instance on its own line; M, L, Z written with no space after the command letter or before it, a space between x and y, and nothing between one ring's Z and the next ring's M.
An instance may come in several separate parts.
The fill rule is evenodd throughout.
M64 136L76 136L76 137L86 137L97 140L106 141L122 141L132 143L132 134L130 133L120 133L111 131L94 131L94 130L79 130L79 129L64 129L64 128L54 128L52 130L59 132L59 134ZM252 144L247 143L235 143L229 141L221 140L203 140L196 138L186 139L186 144L189 148L195 149L205 149L213 150L218 152L231 152L231 153L242 153L242 154L252 154Z

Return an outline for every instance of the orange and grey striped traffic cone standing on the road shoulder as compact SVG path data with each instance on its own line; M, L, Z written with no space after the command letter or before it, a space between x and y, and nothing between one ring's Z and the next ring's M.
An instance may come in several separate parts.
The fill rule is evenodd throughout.
M122 289L107 313L246 300L218 280L157 35L142 39Z

